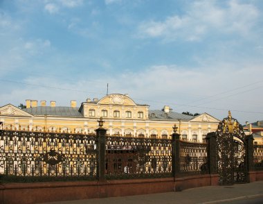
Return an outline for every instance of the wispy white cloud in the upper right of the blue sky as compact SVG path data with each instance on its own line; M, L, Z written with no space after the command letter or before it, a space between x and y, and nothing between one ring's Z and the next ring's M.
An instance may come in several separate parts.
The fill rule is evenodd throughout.
M183 15L173 15L164 21L150 20L138 26L140 37L161 37L168 41L197 41L210 33L248 35L259 19L255 6L227 1L220 7L217 1L194 1Z

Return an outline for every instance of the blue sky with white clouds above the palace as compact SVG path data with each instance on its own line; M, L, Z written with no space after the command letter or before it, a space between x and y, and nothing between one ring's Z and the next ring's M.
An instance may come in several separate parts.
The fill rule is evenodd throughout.
M262 0L0 0L0 106L129 94L263 120Z

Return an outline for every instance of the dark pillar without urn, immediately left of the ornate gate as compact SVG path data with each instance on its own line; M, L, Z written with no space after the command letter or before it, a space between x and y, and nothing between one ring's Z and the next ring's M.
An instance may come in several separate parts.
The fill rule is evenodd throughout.
M206 135L208 140L208 173L217 173L217 137L215 132Z

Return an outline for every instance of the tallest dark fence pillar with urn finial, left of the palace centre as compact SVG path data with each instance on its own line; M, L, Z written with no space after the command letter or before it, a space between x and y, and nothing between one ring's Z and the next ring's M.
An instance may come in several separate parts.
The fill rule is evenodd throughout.
M98 121L99 128L96 130L98 139L98 165L97 165L97 178L98 180L105 180L105 150L106 150L106 132L105 128L102 128L104 121L102 117Z

